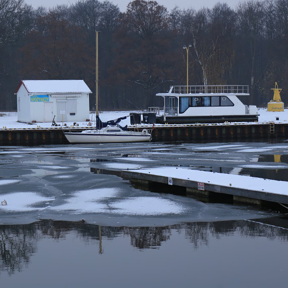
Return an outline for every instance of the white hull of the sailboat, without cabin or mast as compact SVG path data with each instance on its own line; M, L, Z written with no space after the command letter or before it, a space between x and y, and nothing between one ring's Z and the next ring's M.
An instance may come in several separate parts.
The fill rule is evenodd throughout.
M150 134L103 134L64 132L70 143L122 143L122 142L149 142Z

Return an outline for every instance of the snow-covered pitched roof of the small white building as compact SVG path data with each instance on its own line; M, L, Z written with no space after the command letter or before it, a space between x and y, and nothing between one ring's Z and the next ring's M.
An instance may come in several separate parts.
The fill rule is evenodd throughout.
M91 93L83 80L22 80L28 93Z

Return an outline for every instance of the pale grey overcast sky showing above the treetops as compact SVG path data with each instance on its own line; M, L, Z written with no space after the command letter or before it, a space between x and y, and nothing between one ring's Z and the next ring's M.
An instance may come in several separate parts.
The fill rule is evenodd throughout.
M74 4L78 0L24 0L25 3L32 5L33 8L43 6L46 8L51 8L53 6L62 5L62 4ZM158 4L165 6L168 11L173 9L176 4L180 9L194 8L199 10L202 7L212 8L217 2L224 3L226 2L231 8L239 3L239 0L227 0L227 1L215 1L215 0L156 0ZM103 2L100 0L100 2ZM126 11L127 4L130 0L110 0L110 2L118 5L121 12Z

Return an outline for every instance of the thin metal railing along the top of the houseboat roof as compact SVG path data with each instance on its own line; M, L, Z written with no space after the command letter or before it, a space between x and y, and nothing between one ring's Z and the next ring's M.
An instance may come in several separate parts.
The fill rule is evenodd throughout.
M187 86L171 86L169 93L186 94ZM248 85L194 85L188 86L188 94L215 93L215 94L249 94Z

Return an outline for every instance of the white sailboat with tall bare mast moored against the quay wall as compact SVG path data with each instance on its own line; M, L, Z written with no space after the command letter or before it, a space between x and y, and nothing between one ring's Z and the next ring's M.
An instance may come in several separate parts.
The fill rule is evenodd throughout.
M98 34L96 31L96 117L95 128L81 132L64 131L64 135L70 143L121 143L121 142L148 142L151 133L147 129L142 131L128 130L121 127L119 122L126 117L102 122L99 118L99 92L98 92Z

